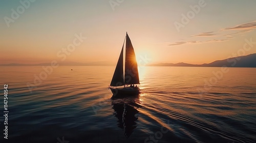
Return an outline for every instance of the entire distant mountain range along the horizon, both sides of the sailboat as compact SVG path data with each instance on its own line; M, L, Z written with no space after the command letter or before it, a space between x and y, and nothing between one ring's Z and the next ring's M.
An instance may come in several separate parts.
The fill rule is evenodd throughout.
M100 62L90 62L90 63L80 63L80 62L59 62L60 66L114 66L116 63L109 61L100 61ZM47 66L51 63L39 63L39 64L19 64L19 63L10 63L10 64L0 64L0 66ZM256 53L250 54L247 56L239 56L228 58L225 60L217 60L211 63L204 64L189 64L189 63L157 63L149 64L147 66L197 66L197 67L256 67Z

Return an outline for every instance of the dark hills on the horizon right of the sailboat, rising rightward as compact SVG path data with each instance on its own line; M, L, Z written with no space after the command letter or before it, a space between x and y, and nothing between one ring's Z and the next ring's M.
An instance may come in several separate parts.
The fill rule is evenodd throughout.
M239 56L228 58L225 60L217 60L211 63L204 64L188 64L188 63L158 63L150 64L148 66L199 66L199 67L256 67L256 53L247 56Z

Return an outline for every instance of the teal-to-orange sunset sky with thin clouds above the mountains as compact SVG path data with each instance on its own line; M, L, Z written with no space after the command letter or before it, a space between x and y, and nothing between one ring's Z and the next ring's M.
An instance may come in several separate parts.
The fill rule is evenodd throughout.
M256 53L255 6L255 0L0 1L0 64L116 63L126 32L137 61L146 64L249 55Z

